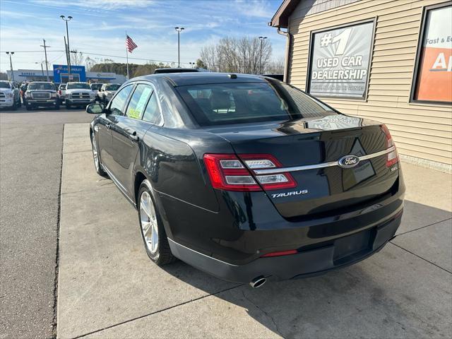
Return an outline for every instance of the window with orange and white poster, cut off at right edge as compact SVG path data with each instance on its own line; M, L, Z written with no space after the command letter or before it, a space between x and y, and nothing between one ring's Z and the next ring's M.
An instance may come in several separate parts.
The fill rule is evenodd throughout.
M452 6L427 8L411 100L452 102Z

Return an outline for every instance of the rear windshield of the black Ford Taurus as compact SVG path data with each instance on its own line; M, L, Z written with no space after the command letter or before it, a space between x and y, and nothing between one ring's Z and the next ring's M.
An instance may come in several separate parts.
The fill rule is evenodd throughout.
M210 83L176 89L201 126L336 114L297 88L280 82Z

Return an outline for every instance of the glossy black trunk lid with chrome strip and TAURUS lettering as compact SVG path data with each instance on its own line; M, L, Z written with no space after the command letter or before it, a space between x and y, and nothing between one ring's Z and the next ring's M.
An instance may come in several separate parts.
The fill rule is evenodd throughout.
M230 141L245 163L247 155L268 154L278 160L277 167L284 168L250 168L255 179L278 173L295 179L296 185L287 189L263 186L285 218L309 218L371 201L390 191L398 179L398 163L388 165L388 138L375 121L334 114L210 131ZM357 158L362 160L353 163Z

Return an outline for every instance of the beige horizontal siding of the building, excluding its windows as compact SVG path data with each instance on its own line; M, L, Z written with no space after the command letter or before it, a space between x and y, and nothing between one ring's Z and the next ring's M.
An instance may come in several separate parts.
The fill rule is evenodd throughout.
M290 17L293 41L287 80L305 89L312 30L376 17L367 101L323 100L340 112L387 124L400 154L452 165L451 105L409 102L422 8L441 2L444 1L361 0L304 17L299 17L302 11L295 9Z

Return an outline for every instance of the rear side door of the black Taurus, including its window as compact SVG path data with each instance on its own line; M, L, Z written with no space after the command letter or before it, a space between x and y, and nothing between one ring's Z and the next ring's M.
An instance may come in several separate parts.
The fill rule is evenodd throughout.
M112 170L130 197L133 196L133 164L143 136L152 126L141 120L152 94L150 83L137 83L124 116L117 117L111 128L114 153Z

